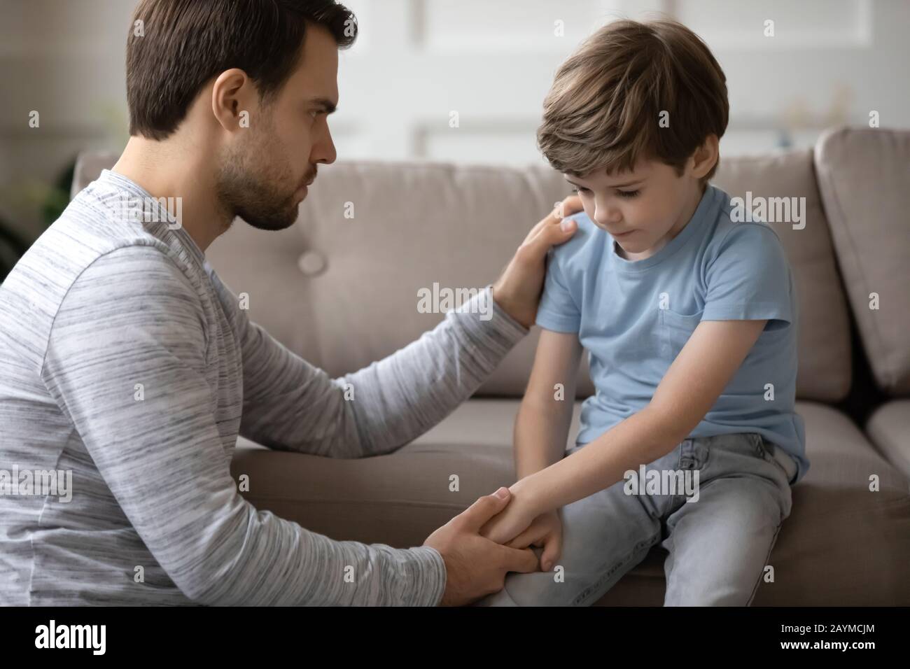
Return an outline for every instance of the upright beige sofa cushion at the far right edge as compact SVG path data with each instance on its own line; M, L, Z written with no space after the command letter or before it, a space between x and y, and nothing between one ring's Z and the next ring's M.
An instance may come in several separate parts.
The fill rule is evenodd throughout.
M910 393L910 131L840 128L815 169L864 350L883 390ZM878 309L870 308L870 294Z

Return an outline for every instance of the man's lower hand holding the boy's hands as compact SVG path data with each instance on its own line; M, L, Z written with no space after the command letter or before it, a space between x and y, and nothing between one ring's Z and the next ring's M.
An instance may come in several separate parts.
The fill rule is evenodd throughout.
M423 542L439 551L446 563L446 592L441 606L460 606L500 592L508 572L537 571L537 556L530 548L509 548L480 536L480 527L510 500L508 488L480 497Z

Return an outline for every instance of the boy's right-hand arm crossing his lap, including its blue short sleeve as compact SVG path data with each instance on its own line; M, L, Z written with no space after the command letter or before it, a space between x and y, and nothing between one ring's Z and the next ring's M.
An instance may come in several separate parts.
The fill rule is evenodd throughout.
M733 226L706 262L702 322L651 402L580 451L518 481L507 510L516 521L608 488L625 471L670 452L711 410L768 320L796 318L793 276L773 228Z

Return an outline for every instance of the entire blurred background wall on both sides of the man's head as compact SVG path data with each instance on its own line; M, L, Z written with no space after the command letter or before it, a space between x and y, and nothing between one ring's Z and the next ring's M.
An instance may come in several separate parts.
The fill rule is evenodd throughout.
M727 155L810 146L840 123L910 127L907 0L349 0L339 158L541 160L541 101L561 60L612 18L676 16L727 75ZM82 148L126 139L133 0L0 0L0 203L17 208ZM765 19L775 35L763 35ZM556 21L564 35L554 35ZM38 110L41 127L28 127ZM450 112L460 127L450 127ZM27 214L25 218L27 218ZM27 222L27 221L26 221Z

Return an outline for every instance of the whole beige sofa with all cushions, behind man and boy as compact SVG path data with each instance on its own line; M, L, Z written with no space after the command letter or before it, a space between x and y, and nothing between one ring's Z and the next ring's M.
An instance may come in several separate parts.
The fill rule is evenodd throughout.
M74 193L116 157L86 155ZM755 605L910 604L910 132L837 129L814 150L723 157L732 196L804 197L805 226L774 224L802 311L797 411L811 467ZM440 314L418 290L496 279L528 228L567 194L543 167L343 162L323 167L281 232L236 223L207 258L251 317L332 376L420 337ZM346 203L354 217L346 218ZM350 205L347 205L349 212ZM877 293L879 309L870 309ZM357 461L241 439L233 469L259 509L339 540L420 545L478 496L514 481L511 428L537 329L474 399L399 451ZM582 363L578 400L591 393ZM578 403L570 441L578 428ZM460 492L450 492L458 474ZM870 477L879 490L870 491ZM661 604L659 546L601 604Z

